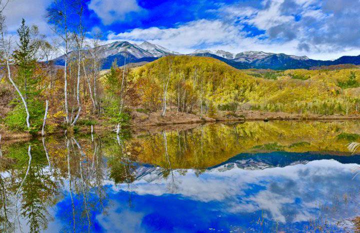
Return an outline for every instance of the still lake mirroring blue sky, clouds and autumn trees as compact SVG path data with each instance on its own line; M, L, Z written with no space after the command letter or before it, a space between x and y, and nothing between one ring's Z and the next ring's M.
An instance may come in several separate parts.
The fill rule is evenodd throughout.
M360 121L2 142L0 232L359 232L351 141Z

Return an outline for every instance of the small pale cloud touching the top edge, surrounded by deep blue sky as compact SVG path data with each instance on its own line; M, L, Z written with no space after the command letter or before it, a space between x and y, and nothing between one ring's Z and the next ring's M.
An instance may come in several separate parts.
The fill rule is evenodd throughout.
M104 25L124 20L126 14L142 10L136 0L91 0L88 8L96 13Z

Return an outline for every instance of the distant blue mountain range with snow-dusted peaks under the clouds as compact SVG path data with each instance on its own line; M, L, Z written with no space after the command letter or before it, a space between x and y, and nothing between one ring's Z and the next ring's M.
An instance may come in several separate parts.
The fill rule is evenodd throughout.
M91 50L87 50L89 53ZM151 62L163 56L182 55L170 51L159 45L143 42L140 45L131 44L126 41L113 42L111 44L97 47L99 59L102 60L102 68L109 69L112 62L116 59L117 65L122 66L126 58L126 63ZM246 51L232 54L227 51L217 50L195 50L187 56L212 57L237 69L309 69L311 67L331 66L340 64L360 65L359 56L343 56L334 61L321 61L309 59L306 56L298 57L294 55L265 53L261 51ZM74 57L74 52L69 52L68 57ZM64 65L65 56L62 55L54 59L55 65Z

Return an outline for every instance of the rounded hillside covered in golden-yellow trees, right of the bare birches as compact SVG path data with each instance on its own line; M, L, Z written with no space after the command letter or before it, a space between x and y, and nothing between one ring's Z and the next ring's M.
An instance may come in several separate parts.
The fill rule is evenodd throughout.
M358 69L236 70L212 58L182 56L161 58L133 73L141 102L152 111L167 80L166 96L179 111L198 112L202 106L207 113L258 109L346 115L359 110Z

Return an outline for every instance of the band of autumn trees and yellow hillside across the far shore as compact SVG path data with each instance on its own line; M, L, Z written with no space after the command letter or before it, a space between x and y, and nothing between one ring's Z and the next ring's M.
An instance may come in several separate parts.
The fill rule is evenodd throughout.
M117 67L102 74L91 57L70 61L67 74L68 115L64 108L63 68L33 64L11 66L14 82L26 94L30 128L17 91L8 79L0 84L2 131L78 130L79 126L115 128L194 114L199 119L240 117L244 111L284 112L301 116L358 114L360 70L237 70L208 57L167 56L141 67ZM80 70L77 72L78 66ZM23 72L30 72L23 76ZM25 86L23 77L27 77ZM25 90L26 88L26 90ZM78 89L77 89L78 88ZM66 116L68 123L66 123ZM76 119L76 120L75 120ZM187 118L186 118L187 119Z

